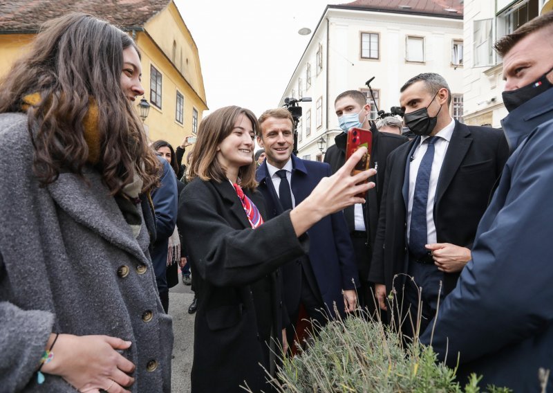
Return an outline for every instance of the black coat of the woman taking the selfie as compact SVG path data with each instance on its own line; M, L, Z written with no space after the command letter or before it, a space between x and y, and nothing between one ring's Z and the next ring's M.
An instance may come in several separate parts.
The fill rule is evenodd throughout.
M261 194L245 193L265 216ZM295 235L289 213L252 230L229 181L191 181L178 219L198 273L192 392L243 392L244 381L268 390L259 363L267 364L267 331L279 339L282 329L276 271L306 253L307 237Z

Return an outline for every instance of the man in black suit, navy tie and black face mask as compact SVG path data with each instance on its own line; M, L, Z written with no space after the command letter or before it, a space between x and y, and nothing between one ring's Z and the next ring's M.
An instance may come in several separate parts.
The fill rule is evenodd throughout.
M382 309L392 291L403 315L410 312L402 325L409 337L420 300L422 332L471 259L478 221L509 155L502 132L452 120L450 103L449 86L438 74L406 82L400 104L418 137L395 150L386 167L369 278Z

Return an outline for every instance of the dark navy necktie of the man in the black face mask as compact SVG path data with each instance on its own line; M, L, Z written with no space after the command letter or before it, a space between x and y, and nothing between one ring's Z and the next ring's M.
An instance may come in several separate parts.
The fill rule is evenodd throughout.
M411 229L409 231L409 250L411 250L411 253L415 257L422 257L428 253L427 248L424 247L424 244L427 244L428 241L428 191L432 161L434 159L434 143L438 138L440 137L431 136L427 140L424 140L424 143L428 143L427 152L424 153L417 172L415 193L413 194L413 208L411 208Z

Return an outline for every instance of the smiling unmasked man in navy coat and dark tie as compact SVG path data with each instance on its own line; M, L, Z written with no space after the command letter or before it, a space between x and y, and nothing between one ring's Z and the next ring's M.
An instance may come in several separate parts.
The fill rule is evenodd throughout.
M292 156L293 120L286 109L265 111L259 123L261 135L257 142L265 148L266 159L256 179L268 217L272 218L306 199L323 177L330 176L330 167ZM300 304L320 325L335 317L335 308L340 316L355 310L358 278L347 233L342 212L325 217L308 230L309 253L281 269L283 302L290 319L289 340L298 322Z

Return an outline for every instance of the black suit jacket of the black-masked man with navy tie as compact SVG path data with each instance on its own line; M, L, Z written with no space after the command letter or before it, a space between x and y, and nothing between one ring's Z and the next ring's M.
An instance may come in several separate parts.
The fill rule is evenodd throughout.
M419 143L420 137L415 138L388 157L369 275L369 280L386 284L386 293L392 289L393 277L407 272L408 164ZM467 126L456 120L436 188L434 223L438 243L472 247L478 222L508 157L503 132ZM459 273L444 273L446 295L458 277ZM402 275L395 280L397 293L401 293L404 279Z

